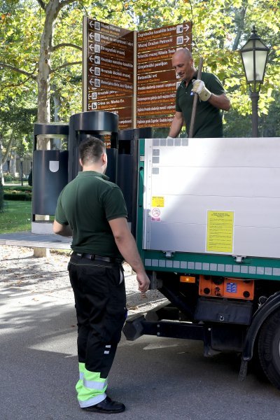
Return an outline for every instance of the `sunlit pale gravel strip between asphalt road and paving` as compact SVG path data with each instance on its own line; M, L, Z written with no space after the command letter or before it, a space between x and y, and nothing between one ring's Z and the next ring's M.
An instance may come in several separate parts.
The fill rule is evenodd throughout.
M53 250L49 258L34 258L33 248L0 246L0 293L15 296L34 293L52 295L73 302L73 292L67 273L69 252ZM165 301L158 290L148 290L143 297L138 290L136 276L125 263L128 315L146 313Z

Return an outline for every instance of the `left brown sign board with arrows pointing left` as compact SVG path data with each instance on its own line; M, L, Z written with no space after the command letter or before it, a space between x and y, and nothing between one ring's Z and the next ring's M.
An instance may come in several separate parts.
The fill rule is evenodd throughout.
M118 113L119 129L132 128L133 31L87 17L83 27L83 111Z

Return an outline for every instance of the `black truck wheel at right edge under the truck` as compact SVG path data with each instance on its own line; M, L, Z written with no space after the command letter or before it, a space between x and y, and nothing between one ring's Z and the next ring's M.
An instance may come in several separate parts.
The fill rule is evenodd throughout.
M280 389L280 311L270 315L260 329L258 356L267 378Z

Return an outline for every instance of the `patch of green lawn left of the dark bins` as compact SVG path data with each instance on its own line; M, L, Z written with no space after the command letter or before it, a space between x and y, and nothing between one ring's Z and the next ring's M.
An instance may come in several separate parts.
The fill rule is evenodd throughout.
M4 200L0 212L0 233L31 231L31 201Z

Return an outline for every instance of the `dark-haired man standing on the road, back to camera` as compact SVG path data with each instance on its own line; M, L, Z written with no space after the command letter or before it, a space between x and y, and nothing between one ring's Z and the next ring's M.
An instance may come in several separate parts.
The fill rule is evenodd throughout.
M83 172L60 193L53 223L55 233L73 237L68 270L78 321L76 391L80 408L120 413L125 405L105 391L127 315L123 260L137 273L141 292L150 281L127 225L123 194L104 175L104 142L90 137L79 152Z

